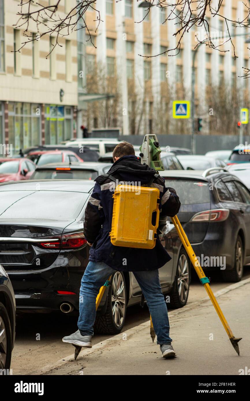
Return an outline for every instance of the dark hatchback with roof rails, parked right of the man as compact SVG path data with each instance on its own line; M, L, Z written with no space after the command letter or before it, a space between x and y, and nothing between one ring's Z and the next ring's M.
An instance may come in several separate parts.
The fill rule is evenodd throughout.
M240 281L250 263L248 188L223 168L160 174L179 195L178 218L204 271L215 269L225 281Z

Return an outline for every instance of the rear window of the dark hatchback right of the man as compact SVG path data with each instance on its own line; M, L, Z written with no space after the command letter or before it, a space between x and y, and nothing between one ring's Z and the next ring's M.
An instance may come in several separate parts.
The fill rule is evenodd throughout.
M197 203L210 203L209 184L205 181L192 179L165 178L166 187L176 190L182 205L194 205Z

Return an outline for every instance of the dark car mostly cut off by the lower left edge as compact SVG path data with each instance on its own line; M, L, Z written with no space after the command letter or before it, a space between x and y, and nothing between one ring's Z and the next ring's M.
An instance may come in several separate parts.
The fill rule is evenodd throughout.
M0 253L3 251L0 245ZM16 333L16 303L10 278L0 265L0 375L9 375Z

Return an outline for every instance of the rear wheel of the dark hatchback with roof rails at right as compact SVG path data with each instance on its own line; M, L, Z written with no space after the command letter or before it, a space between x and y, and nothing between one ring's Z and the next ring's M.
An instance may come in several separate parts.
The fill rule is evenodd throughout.
M231 270L222 271L224 281L238 283L242 279L244 263L244 247L240 235L236 238L234 247L234 267Z

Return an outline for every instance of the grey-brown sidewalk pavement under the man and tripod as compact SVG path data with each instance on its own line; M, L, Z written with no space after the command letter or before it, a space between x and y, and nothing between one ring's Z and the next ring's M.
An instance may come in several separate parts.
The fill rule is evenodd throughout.
M65 355L69 356L31 374L239 375L239 369L250 369L250 279L232 284L215 296L234 336L242 337L240 356L204 290L203 300L169 313L175 358L161 357L159 345L150 338L148 320L91 349L82 348L76 361L75 348L65 346Z

